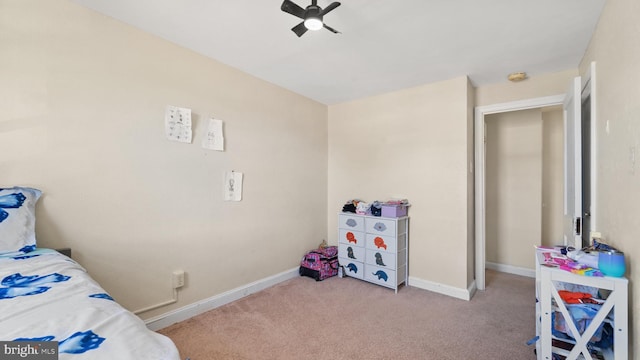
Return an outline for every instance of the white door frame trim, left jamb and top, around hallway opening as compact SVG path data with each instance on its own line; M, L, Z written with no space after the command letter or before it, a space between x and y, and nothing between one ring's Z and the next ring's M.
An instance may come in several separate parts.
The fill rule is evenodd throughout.
M476 287L485 289L485 121L484 116L509 111L536 109L562 105L565 94L546 96L528 100L512 101L501 104L477 106L475 108L474 147L475 147L475 228L476 228ZM533 255L532 255L533 256Z

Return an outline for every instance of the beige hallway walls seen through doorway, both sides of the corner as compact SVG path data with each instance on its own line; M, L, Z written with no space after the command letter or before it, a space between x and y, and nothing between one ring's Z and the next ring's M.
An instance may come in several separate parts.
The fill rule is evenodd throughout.
M491 114L485 121L486 260L533 270L533 245L562 244L562 109Z

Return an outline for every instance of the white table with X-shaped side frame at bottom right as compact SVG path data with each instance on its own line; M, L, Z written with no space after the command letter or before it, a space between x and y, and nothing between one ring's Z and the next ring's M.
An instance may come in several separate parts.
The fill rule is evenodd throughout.
M536 343L536 353L538 359L552 360L552 353L566 357L566 360L593 359L587 344L600 324L609 322L608 315L613 311L613 348L601 349L606 360L627 360L629 346L628 332L628 283L626 278L617 277L590 277L573 274L559 268L543 266L543 253L547 250L536 250L536 335L539 337ZM559 282L591 286L598 289L610 291L606 301L601 305L600 310L592 319L589 326L582 334L579 333L569 310L560 298L557 284ZM555 300L555 301L554 301ZM555 304L554 304L555 302ZM615 310L615 311L614 311ZM561 349L552 346L552 313L558 311L566 320L571 331L571 336L575 339L569 342L561 339L565 343L572 343L571 350ZM569 320L571 319L571 320Z

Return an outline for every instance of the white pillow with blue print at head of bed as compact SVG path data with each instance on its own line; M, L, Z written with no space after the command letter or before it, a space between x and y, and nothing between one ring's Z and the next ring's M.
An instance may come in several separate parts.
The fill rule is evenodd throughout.
M0 253L30 252L36 247L36 202L38 189L0 189Z

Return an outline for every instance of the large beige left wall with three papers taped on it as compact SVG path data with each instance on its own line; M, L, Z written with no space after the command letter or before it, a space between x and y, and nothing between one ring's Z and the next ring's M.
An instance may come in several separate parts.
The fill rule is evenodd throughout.
M131 310L295 268L327 236L327 107L66 0L0 0L0 186L41 188L37 237ZM164 135L167 105L192 144ZM200 146L211 116L226 151ZM224 202L226 170L244 198Z

